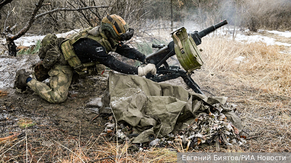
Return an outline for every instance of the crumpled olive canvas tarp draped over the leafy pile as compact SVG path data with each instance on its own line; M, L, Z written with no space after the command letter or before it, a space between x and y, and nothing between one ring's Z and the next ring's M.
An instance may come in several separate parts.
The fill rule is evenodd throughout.
M188 92L180 86L156 83L144 77L109 73L108 85L102 98L100 113L112 113L119 123L128 123L138 134L133 143L152 141L177 129L186 128L201 114L216 109L212 105L226 103L226 97L206 97ZM221 113L241 132L241 120L233 110Z

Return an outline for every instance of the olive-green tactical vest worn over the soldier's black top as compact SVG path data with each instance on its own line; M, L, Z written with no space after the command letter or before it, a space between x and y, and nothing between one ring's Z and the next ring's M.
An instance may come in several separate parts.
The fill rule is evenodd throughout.
M97 70L97 74L100 74L100 71L105 69L104 65L101 65L99 62L89 62L81 63L81 60L77 57L74 52L73 44L75 44L81 38L89 38L95 40L101 44L106 49L106 53L115 51L115 48L112 48L111 44L108 41L105 33L101 30L100 26L95 28L87 28L81 32L72 34L68 39L63 41L61 49L63 51L65 60L68 61L69 65L75 69L75 71L80 75L92 74ZM102 71L103 72L103 71Z

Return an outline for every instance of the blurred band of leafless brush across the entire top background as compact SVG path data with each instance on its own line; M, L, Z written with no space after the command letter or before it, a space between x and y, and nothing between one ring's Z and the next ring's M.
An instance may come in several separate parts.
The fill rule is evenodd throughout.
M23 28L35 3L37 0L12 0L2 7L0 31L16 23L14 32ZM108 13L121 15L136 31L170 28L171 20L176 24L193 22L205 28L224 19L236 28L251 31L291 29L291 0L45 0L44 4L37 14L62 7L110 7L48 14L38 18L28 33L62 33L97 26Z

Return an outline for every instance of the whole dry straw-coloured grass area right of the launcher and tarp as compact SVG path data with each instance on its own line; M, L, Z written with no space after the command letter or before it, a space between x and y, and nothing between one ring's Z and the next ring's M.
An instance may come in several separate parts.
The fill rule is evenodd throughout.
M198 84L238 104L243 135L250 152L291 151L290 47L264 43L240 44L208 38L201 46L205 65ZM242 61L236 60L243 56ZM214 75L210 75L214 74Z

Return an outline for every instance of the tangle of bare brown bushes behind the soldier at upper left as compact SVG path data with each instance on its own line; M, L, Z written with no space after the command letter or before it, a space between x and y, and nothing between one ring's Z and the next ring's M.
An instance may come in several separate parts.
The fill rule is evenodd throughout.
M14 0L0 11L0 30L7 26L18 24L18 29L23 28L28 22L36 0ZM72 9L87 6L111 6L108 8L89 9L81 11L59 11L42 16L34 22L28 31L33 34L65 32L76 28L94 27L107 14L121 15L135 28L142 25L146 0L45 0L43 7L37 14L56 8L70 7ZM5 23L6 22L6 23ZM5 26L5 27L4 27ZM17 31L16 29L15 31Z

